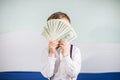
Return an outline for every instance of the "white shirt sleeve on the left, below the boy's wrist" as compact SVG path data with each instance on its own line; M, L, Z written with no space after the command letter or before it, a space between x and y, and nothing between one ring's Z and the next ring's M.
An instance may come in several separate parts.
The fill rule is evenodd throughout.
M43 64L44 66L42 67L42 70L41 70L41 73L44 77L50 78L51 76L53 76L55 61L56 61L56 58L47 57L47 62Z

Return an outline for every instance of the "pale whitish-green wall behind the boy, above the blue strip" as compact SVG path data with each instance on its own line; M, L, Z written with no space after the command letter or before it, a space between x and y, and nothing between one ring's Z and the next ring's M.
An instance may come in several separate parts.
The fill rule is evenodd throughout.
M40 70L48 16L67 13L78 33L82 72L120 71L119 0L0 0L0 71Z

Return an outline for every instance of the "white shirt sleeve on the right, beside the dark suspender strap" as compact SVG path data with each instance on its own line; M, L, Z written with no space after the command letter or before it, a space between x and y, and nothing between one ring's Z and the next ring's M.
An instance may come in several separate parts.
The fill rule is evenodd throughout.
M81 53L79 48L76 48L72 52L72 59L70 56L63 58L63 64L65 65L66 73L71 77L77 77L81 69Z

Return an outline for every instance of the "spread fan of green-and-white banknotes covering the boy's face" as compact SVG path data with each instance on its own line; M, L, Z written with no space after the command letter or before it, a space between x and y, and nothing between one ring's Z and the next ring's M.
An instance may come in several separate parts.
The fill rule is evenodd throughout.
M68 42L77 37L73 27L68 22L61 19L47 21L43 28L42 35L48 40L59 41L65 39Z

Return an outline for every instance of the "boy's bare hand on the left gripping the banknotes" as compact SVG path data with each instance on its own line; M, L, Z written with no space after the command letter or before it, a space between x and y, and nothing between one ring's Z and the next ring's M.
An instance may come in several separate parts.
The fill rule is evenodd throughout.
M55 52L56 52L57 47L58 47L58 42L56 42L56 41L50 41L49 42L49 56L50 57L55 56Z

